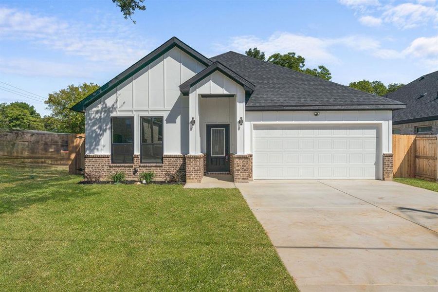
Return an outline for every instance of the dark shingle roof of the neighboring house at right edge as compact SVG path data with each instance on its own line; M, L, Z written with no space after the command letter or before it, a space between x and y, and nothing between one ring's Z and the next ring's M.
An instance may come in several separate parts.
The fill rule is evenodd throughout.
M427 93L427 94L426 94ZM424 96L421 96L425 94ZM394 124L438 119L438 71L426 74L388 94L388 98L406 104L393 113Z

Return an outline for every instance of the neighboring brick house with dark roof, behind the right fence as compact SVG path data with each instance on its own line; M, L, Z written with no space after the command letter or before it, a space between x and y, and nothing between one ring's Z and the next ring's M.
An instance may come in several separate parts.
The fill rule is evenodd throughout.
M406 109L394 111L393 134L438 134L438 71L421 76L387 97L406 104Z

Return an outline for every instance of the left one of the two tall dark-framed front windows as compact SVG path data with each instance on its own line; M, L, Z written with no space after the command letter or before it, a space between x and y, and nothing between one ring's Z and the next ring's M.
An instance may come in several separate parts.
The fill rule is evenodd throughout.
M111 117L112 163L134 163L134 129L132 117Z

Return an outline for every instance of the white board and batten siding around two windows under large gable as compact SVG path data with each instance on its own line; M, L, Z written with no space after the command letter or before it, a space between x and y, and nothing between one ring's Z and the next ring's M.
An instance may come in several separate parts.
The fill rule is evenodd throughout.
M140 153L140 117L164 117L164 154L189 153L189 103L179 85L205 68L173 48L87 107L86 154L110 154L110 117L134 117L134 153Z

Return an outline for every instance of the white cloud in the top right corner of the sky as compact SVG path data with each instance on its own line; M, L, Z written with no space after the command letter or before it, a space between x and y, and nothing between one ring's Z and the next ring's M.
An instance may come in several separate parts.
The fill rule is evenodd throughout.
M428 24L430 21L438 23L438 12L435 7L403 3L387 8L382 18L398 28L408 29Z

